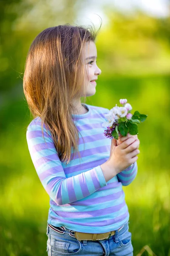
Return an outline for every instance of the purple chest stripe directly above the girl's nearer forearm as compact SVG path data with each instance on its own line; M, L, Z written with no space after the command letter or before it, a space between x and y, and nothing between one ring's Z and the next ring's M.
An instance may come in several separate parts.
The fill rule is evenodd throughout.
M96 166L101 165L102 163L105 163L105 161L108 160L108 158L103 158L103 159L99 159L99 160L95 160L95 161L88 161L87 163L81 163L81 166L79 164L75 165L75 166L70 166L70 167L66 167L64 168L64 172L65 174L71 174L73 172L79 172L79 171L83 171L85 169L93 169ZM81 167L81 168L80 168Z

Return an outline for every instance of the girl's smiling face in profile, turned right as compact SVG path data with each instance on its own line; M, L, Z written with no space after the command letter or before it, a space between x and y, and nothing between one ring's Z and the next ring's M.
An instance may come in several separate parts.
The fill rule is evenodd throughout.
M93 41L86 42L85 44L85 87L86 96L92 96L96 93L96 80L98 75L102 73L96 64L97 49Z

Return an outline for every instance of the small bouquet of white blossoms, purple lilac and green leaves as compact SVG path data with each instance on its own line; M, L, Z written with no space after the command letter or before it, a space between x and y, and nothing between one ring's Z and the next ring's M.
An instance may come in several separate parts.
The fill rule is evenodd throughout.
M135 111L130 113L132 106L127 103L127 99L120 99L123 107L113 107L108 114L105 114L106 122L102 123L102 127L107 127L104 134L107 138L115 138L118 140L119 135L126 136L129 132L131 135L138 134L138 124L144 122L147 115L140 114Z

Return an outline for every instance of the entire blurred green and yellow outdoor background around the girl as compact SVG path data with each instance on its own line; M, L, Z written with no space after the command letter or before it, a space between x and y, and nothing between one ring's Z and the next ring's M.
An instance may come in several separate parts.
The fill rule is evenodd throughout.
M102 74L87 104L111 109L126 98L133 111L148 115L139 125L138 175L124 187L129 226L135 256L170 256L170 2L166 0L0 1L1 256L47 255L49 197L26 142L32 120L23 94L28 49L47 27L93 22L98 29L100 18L96 47ZM142 249L145 245L148 250Z

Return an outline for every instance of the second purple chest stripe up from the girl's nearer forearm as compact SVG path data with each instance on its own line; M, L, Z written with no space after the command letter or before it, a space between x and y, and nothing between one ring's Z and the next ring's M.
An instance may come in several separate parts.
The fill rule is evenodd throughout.
M80 153L81 157L88 157L88 156L91 156L94 154L105 153L105 152L108 152L109 150L110 150L110 146L103 145L103 146L96 147L96 148L85 149L85 150L79 151L79 153ZM73 156L73 153L71 153L71 157L72 156ZM76 156L74 159L78 159L78 158L79 158L79 155L78 155L78 153L76 153Z

